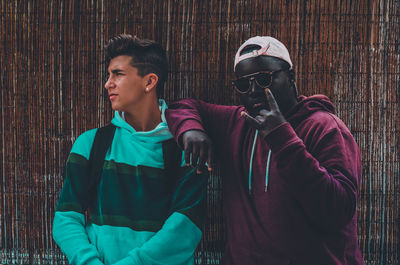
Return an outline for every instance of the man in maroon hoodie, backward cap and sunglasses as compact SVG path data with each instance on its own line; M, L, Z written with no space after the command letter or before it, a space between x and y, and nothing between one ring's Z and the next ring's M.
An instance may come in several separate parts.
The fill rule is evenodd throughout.
M247 40L234 70L244 107L185 99L166 112L187 162L208 158L210 169L213 143L228 232L222 263L363 264L360 152L332 103L297 95L289 53L274 38Z

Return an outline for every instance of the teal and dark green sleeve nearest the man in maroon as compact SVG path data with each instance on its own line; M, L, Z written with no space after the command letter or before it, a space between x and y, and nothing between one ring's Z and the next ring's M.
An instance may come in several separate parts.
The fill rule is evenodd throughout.
M145 244L129 252L117 265L193 264L193 255L202 232L207 174L182 167L171 202L171 215L162 228Z

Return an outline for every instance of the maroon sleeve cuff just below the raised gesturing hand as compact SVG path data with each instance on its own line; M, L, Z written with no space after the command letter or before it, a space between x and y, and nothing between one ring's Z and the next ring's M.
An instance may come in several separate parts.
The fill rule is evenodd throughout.
M264 140L273 152L279 152L286 146L301 141L289 122L279 125Z

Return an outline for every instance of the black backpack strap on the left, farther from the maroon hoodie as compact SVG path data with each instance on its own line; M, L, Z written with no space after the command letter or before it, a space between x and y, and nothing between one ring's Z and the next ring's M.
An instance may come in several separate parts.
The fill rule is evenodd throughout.
M96 198L96 189L97 185L100 182L101 174L103 172L104 159L106 157L107 150L108 148L110 148L112 140L114 138L115 128L115 125L110 123L104 127L99 128L96 132L96 136L94 137L88 164L88 206L90 206L91 202Z

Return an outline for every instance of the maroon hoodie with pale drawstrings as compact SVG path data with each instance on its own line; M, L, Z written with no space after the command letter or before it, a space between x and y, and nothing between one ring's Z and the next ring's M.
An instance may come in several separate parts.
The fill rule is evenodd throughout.
M213 141L228 230L222 263L363 264L355 214L360 152L332 103L301 96L288 122L255 143L243 110L185 99L166 111L176 139L196 129Z

